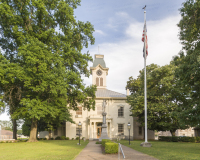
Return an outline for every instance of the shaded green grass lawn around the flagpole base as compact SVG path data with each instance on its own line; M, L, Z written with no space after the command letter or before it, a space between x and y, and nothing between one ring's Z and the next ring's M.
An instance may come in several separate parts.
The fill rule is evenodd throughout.
M144 141L135 140L129 141L121 140L120 143L131 147L137 151L148 154L159 160L200 160L200 143L186 143L186 142L161 142L149 141L152 147L141 147L140 144Z

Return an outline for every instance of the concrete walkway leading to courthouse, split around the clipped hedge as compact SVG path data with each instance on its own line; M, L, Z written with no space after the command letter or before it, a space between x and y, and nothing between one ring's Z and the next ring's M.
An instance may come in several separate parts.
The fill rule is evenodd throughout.
M102 154L101 145L95 144L96 141L90 141L88 145L81 151L81 153L75 158L75 160L117 160L118 154ZM149 155L135 151L129 147L122 145L122 149L127 160L158 160ZM120 159L123 157L121 155Z

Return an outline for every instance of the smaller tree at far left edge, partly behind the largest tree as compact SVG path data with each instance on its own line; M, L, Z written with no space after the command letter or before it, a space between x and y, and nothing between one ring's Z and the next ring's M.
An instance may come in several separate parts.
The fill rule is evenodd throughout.
M0 93L1 93L1 112L5 112L5 106L8 108L8 114L12 115L17 107L20 106L22 97L21 67L16 63L9 62L0 54ZM6 105L4 103L6 103ZM18 118L17 118L18 119ZM13 123L13 139L17 139L17 119L11 117Z

